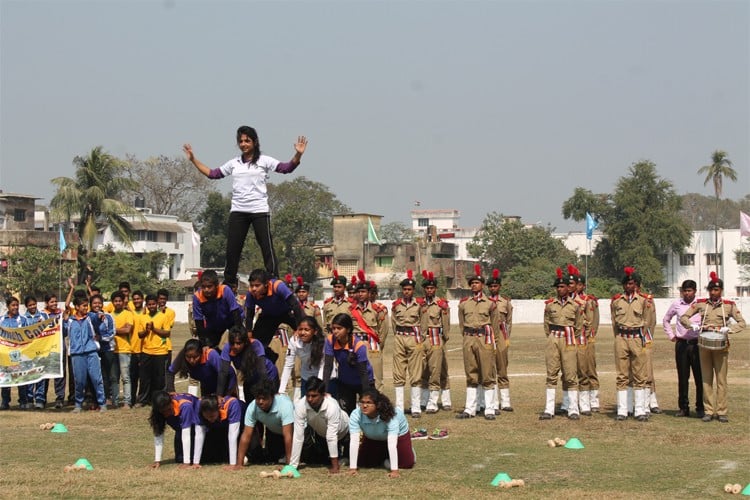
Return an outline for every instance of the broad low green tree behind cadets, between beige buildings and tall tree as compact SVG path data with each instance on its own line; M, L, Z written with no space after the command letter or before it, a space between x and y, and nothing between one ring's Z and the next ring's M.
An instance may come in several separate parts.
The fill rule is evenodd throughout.
M487 269L497 267L501 272L529 266L539 258L549 262L576 260L575 254L552 236L551 227L526 227L520 221L505 221L497 212L487 215L467 250Z

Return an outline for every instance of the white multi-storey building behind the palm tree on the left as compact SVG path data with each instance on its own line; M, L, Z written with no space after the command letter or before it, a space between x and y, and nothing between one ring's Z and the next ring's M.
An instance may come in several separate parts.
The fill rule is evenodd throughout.
M117 239L109 226L100 229L95 247L111 247L117 252L143 255L146 252L164 252L168 259L159 272L159 279L191 279L200 268L201 244L191 222L178 221L174 215L154 215L144 211L143 219L126 216L133 230L132 246Z

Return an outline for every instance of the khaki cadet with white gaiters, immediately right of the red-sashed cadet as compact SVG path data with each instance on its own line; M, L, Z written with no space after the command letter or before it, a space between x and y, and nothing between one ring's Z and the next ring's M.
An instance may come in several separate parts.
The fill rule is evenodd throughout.
M424 371L424 349L422 348L422 308L414 299L416 281L412 270L401 281L401 297L391 306L391 331L393 332L393 386L396 389L396 404L404 409L404 386L411 386L411 416L421 415L420 384Z

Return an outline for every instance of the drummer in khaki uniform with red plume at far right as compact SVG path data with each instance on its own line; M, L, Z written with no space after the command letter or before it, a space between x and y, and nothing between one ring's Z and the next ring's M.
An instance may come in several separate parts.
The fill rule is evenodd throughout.
M685 328L692 329L693 332L702 332L698 345L703 376L703 407L706 412L703 421L710 422L716 418L719 422L727 423L729 422L729 417L727 417L729 339L727 334L742 331L745 328L745 320L737 309L737 304L721 298L724 282L713 271L710 276L711 281L706 287L708 298L695 301L680 316L680 323ZM695 314L700 315L700 323L690 321ZM731 325L730 319L734 320ZM708 342L704 340L710 337L707 332L719 332L722 337ZM716 395L714 395L713 387L714 376L716 376Z

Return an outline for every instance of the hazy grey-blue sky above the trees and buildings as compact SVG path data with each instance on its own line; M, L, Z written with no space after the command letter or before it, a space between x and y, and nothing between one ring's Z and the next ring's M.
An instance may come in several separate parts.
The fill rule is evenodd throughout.
M563 201L642 159L711 194L724 149L750 192L749 75L745 1L0 0L0 188L46 203L98 145L219 166L248 124L384 222L583 229Z

